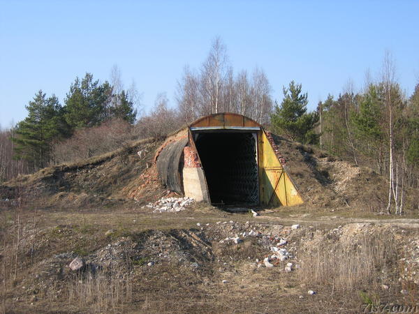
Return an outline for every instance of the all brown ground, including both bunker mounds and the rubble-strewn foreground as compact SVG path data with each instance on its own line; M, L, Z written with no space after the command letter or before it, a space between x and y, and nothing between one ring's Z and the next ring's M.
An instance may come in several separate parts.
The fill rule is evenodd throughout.
M156 177L154 140L3 184L1 310L419 311L418 194L404 215L382 214L378 174L276 140L305 202L254 208L260 216L147 207L177 197Z

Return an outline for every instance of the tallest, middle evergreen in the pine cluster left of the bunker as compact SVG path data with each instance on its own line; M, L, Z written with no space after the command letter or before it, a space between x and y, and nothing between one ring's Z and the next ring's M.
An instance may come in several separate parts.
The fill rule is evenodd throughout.
M111 96L112 87L108 82L99 84L90 73L86 73L81 81L76 77L64 100L66 122L72 128L101 124L109 118Z

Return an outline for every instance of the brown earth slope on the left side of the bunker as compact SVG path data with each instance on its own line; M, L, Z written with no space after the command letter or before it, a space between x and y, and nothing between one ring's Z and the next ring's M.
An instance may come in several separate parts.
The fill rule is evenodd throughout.
M151 165L158 146L159 142L153 139L139 140L101 156L17 177L0 186L2 200L13 200L17 190L22 190L33 204L44 208L98 204L112 207L127 202L127 189L143 184L140 175ZM141 156L138 152L142 152ZM145 198L154 200L163 195L163 191L161 186L154 186L152 195Z

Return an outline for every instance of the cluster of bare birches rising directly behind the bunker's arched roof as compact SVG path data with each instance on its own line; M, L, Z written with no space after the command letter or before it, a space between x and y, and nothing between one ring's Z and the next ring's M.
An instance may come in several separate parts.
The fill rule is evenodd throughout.
M215 38L200 68L185 66L177 84L176 100L181 118L191 122L218 112L236 112L267 124L273 107L272 87L267 75L255 68L251 75L235 75L221 38Z

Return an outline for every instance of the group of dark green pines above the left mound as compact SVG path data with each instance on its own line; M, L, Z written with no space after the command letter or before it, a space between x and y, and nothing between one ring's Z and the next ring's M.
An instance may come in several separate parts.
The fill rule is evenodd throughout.
M108 81L99 83L91 73L78 77L64 99L47 96L42 90L26 106L28 116L13 128L14 156L37 170L54 160L54 144L80 128L99 126L105 121L122 119L133 124L136 110L126 90L116 91Z

